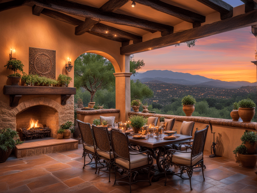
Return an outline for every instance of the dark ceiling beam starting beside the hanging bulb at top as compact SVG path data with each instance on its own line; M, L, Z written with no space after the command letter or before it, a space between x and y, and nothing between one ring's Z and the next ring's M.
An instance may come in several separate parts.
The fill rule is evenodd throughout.
M135 0L136 3L149 6L157 11L161 11L163 13L167 13L174 17L178 17L181 20L194 23L194 22L205 22L205 16L200 15L198 13L185 10L183 8L170 5L168 3L164 3L159 0Z

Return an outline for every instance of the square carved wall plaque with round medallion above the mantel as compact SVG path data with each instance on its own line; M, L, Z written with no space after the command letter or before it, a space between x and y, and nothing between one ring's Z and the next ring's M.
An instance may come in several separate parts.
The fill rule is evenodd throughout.
M55 50L29 47L29 74L55 80Z

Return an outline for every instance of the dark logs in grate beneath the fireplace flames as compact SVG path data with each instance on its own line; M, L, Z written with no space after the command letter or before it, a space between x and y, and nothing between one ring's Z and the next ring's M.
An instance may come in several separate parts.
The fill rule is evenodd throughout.
M17 129L17 132L19 133L19 137L22 141L26 141L26 139L36 139L36 138L44 138L49 137L50 134L50 128L49 127L36 127L27 129L25 128L19 128Z

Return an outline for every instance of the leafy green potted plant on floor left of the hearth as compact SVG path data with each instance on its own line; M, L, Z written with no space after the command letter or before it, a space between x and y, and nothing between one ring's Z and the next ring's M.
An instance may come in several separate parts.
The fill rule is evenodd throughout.
M14 139L17 138L17 139ZM16 131L6 128L0 130L0 163L5 162L17 144L22 144Z

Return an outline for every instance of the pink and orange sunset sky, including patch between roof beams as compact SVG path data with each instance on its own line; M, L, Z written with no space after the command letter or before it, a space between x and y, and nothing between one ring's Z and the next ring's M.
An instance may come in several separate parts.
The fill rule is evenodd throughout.
M243 4L239 0L225 2L233 7ZM159 69L222 81L256 82L256 65L251 63L255 60L256 38L250 32L251 27L241 28L198 39L191 48L182 43L137 53L134 59L145 62L140 73Z

